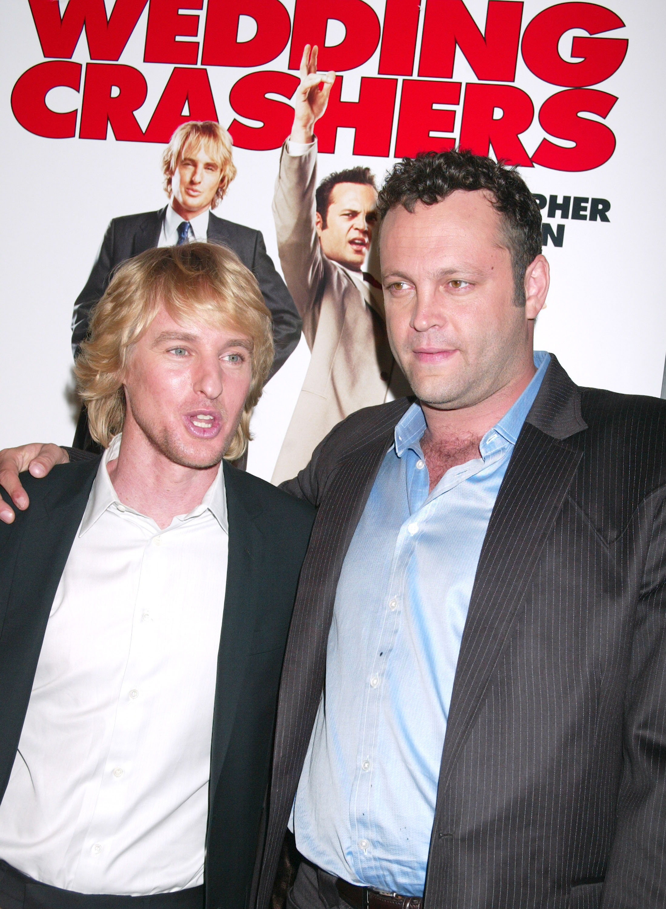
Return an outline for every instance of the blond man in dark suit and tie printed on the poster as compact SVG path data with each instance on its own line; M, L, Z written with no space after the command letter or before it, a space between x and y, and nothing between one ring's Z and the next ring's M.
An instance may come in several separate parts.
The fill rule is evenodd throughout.
M104 294L117 265L154 246L199 240L233 249L259 282L263 302L273 319L275 356L269 376L273 375L299 342L301 318L266 253L261 232L213 214L236 175L231 136L211 121L185 123L164 149L162 170L168 205L156 212L114 218L106 228L93 270L75 302L74 354L88 331L90 311ZM79 447L89 447L86 429L83 415L75 438Z

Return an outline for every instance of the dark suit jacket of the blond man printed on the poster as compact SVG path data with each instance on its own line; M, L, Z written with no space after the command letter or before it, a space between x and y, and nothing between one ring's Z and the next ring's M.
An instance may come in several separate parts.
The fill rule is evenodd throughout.
M160 239L164 213L145 212L143 215L125 215L114 218L106 228L102 248L93 265L84 289L77 296L72 316L72 350L76 355L78 345L88 331L90 311L104 294L116 265L121 265L133 255L153 249ZM234 224L208 215L208 241L233 249L259 282L263 300L273 316L273 341L275 358L271 374L278 371L293 352L301 338L301 317L293 303L292 295L283 279L275 271L273 260L266 253L263 236L251 227Z

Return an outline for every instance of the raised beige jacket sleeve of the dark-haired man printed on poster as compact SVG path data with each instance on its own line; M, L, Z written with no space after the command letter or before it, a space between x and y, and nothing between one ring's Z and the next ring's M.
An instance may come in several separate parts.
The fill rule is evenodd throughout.
M298 157L288 155L283 146L273 196L277 248L284 280L303 319L303 335L311 350L322 305L324 276L315 226L316 180L316 145Z

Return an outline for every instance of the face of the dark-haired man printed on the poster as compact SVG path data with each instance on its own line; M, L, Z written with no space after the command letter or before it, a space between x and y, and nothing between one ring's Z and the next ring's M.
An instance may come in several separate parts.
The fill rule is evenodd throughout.
M317 212L317 234L323 255L355 272L361 271L377 223L373 186L338 183L329 198L326 226Z

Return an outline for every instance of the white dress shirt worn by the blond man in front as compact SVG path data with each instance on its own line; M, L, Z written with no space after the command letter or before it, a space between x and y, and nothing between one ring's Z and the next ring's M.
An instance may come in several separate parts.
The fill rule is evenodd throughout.
M104 454L46 626L0 804L0 858L84 894L204 878L228 524L222 467L160 530Z

